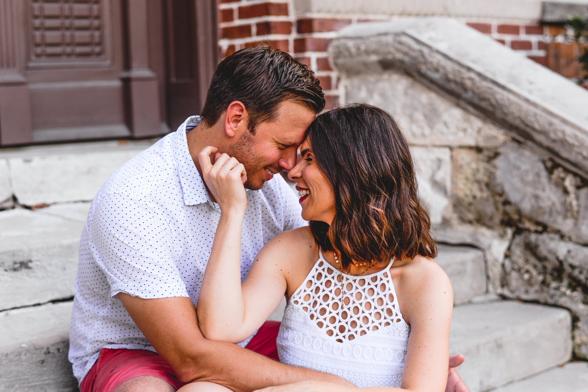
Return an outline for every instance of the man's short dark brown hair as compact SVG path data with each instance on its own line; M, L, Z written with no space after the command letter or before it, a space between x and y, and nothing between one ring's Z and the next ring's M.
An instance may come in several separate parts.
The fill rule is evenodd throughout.
M202 120L212 127L233 101L245 105L249 131L259 123L275 121L286 99L305 103L320 113L325 94L312 70L288 53L269 46L256 46L233 53L222 60L212 76L202 109Z

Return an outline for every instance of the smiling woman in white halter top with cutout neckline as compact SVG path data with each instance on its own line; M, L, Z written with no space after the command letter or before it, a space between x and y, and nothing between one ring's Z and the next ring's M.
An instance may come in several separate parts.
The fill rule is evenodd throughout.
M240 282L245 171L199 159L222 214L198 300L208 339L240 342L288 299L280 361L367 390L443 391L453 292L432 261L406 140L386 111L356 104L320 114L289 172L309 227L283 232ZM342 390L318 381L284 390ZM385 388L380 388L385 387Z

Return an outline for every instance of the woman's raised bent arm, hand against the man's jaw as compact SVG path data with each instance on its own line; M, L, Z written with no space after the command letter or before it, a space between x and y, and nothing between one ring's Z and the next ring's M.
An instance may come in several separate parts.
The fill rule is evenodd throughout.
M240 250L241 227L247 207L245 169L235 158L216 154L212 165L206 147L198 155L202 177L220 205L220 219L212 244L198 298L198 322L207 339L238 343L251 336L276 309L286 291L286 281L280 268L263 262L276 257L279 249L260 252L256 268L250 272L250 285L263 286L263 291L241 288Z

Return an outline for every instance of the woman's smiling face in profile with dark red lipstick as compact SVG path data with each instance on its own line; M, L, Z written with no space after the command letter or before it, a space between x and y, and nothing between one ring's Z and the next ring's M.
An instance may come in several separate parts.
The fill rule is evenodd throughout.
M308 138L300 146L302 159L288 172L290 180L296 181L300 195L302 218L306 221L322 221L329 225L335 217L335 194L329 180L315 161Z

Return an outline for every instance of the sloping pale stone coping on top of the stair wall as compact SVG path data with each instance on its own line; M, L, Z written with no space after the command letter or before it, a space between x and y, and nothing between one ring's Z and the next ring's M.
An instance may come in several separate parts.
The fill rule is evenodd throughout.
M472 28L442 18L360 23L339 31L329 55L343 84L405 72L588 177L588 92Z

